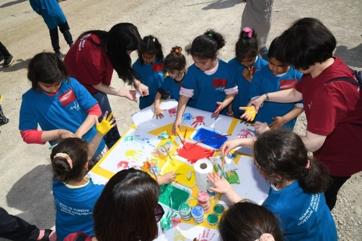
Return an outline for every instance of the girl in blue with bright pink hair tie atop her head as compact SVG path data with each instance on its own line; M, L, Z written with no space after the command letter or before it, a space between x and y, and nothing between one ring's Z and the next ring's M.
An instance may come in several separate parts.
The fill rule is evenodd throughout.
M239 107L246 106L249 103L249 88L252 83L253 75L261 67L268 63L262 59L259 53L258 40L253 29L245 27L239 36L235 46L236 57L229 60L229 64L236 76L236 83L239 93L235 96L232 104L227 108L227 115L240 118L244 113Z

